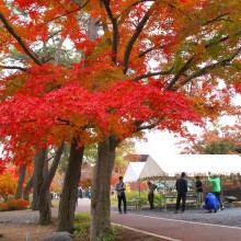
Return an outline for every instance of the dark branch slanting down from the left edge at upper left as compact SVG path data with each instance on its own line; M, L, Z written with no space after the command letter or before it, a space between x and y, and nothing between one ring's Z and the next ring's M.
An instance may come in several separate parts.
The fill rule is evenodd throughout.
M16 32L12 28L12 26L10 25L10 23L8 22L8 20L4 18L4 15L1 12L0 12L0 20L2 21L7 31L16 39L16 42L23 48L25 54L30 56L34 60L35 64L37 64L38 66L42 66L43 64L37 58L37 56L34 53L32 53L32 50L26 46L26 44L22 41L22 37L19 34L16 34Z

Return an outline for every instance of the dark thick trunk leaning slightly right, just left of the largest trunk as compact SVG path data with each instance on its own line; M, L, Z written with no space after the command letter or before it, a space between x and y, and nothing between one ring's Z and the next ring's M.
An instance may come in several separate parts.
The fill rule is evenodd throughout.
M72 140L58 211L58 231L72 233L84 147Z

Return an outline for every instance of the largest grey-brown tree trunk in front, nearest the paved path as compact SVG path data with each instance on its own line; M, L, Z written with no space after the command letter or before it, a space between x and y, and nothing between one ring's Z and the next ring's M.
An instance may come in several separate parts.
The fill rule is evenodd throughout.
M105 137L99 144L91 198L91 241L107 240L113 236L111 227L111 176L118 140Z

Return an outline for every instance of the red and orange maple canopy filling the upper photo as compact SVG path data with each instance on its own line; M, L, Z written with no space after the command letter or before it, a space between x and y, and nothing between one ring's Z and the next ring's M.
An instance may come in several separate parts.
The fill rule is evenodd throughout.
M186 122L237 114L240 8L239 0L1 2L7 160L31 162L73 138L81 146L144 129L184 134Z

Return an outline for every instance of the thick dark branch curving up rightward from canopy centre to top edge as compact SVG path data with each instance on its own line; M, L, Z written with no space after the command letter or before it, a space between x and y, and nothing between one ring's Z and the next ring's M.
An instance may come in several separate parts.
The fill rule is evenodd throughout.
M146 23L148 22L148 20L151 16L151 14L153 13L153 8L152 8L153 4L148 9L148 11L144 15L142 20L139 22L138 26L136 27L133 36L130 37L130 39L126 46L126 50L124 54L124 61L123 61L124 62L124 73L126 73L129 68L129 57L130 57L133 46L134 46L135 42L137 41L137 38L139 37L140 33L142 32Z

